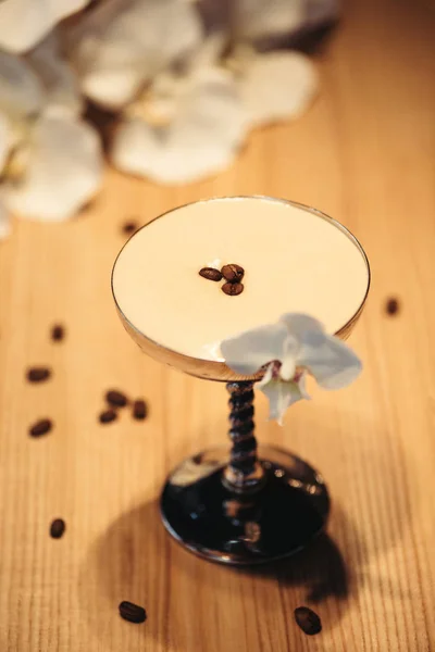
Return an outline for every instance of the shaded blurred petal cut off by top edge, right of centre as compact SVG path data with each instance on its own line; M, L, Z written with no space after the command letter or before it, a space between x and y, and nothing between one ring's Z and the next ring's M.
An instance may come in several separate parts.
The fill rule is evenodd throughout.
M286 35L303 24L304 0L236 0L234 23L239 39Z

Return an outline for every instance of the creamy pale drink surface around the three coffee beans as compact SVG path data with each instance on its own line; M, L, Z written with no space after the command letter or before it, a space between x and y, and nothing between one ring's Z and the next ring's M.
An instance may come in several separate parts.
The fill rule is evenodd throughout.
M236 263L244 291L199 275ZM194 358L222 360L220 342L286 312L338 331L361 305L365 260L346 233L277 200L228 198L172 211L126 243L113 291L128 322L151 340Z

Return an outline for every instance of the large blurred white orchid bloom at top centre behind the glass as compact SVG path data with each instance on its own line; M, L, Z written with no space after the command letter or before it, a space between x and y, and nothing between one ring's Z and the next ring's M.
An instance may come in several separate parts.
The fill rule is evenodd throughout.
M186 22L184 40L177 12L169 13L171 7ZM70 35L84 91L101 105L121 108L110 158L126 174L161 184L186 184L216 174L234 161L250 127L296 117L315 95L318 77L306 57L240 47L233 48L225 62L228 35L212 34L201 41L197 22L197 10L186 0L122 5L109 0ZM135 39L138 24L144 29ZM170 66L174 61L177 65Z

